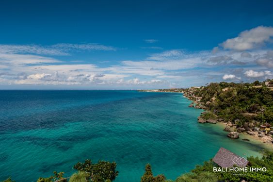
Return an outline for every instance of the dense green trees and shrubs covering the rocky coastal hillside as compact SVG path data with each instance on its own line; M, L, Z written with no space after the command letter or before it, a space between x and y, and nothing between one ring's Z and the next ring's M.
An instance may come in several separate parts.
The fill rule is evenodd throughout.
M202 97L201 104L208 110L208 113L203 115L205 117L217 115L239 126L252 120L271 123L273 91L269 85L273 85L272 80L254 83L210 83L195 88L189 95ZM189 89L185 92L189 92Z

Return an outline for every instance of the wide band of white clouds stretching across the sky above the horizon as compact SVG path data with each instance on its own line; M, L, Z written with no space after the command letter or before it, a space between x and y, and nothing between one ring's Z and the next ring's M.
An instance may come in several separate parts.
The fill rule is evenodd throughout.
M156 45L158 39L144 39ZM189 87L209 82L252 82L273 78L273 27L258 26L211 50L152 50L143 59L96 60L96 54L123 54L125 48L94 43L0 44L0 88L68 85L71 88ZM156 51L156 52L155 52ZM84 59L82 55L88 54ZM101 58L100 58L101 59ZM108 60L109 59L109 60ZM7 87L8 88L8 87ZM50 87L51 88L51 87Z

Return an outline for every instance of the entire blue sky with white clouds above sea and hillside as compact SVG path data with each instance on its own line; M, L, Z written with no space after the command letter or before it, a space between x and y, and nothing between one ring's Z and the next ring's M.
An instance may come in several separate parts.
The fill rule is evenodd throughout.
M5 0L0 89L273 79L272 0Z

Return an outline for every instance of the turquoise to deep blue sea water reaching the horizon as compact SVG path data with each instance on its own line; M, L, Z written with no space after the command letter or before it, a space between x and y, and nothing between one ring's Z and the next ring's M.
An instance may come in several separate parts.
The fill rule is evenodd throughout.
M202 110L177 93L0 91L0 181L35 182L78 161L116 161L115 182L139 182L146 163L175 179L220 147L258 155L218 125L198 124Z

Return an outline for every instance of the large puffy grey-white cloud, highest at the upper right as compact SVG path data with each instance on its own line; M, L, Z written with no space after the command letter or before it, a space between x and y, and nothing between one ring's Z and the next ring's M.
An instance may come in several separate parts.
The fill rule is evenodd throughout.
M272 40L273 27L259 26L243 31L238 37L227 39L221 44L224 49L252 50Z

